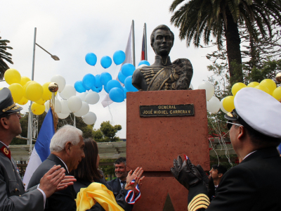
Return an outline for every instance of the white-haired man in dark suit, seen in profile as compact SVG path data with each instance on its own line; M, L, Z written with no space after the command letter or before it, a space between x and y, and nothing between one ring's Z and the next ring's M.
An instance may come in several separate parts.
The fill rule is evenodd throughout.
M51 154L44 162L37 168L30 179L29 187L37 184L41 177L53 165L61 165L65 169L65 174L70 175L72 170L77 169L81 159L85 157L84 154L84 141L80 129L71 125L65 125L58 129L53 135L50 143ZM68 186L63 191L53 193L46 202L45 210L76 210L76 193L73 186Z

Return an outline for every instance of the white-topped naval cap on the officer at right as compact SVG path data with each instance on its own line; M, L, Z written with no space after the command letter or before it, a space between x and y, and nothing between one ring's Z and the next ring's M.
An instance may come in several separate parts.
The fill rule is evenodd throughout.
M281 103L259 89L240 89L234 98L235 110L225 115L266 136L281 139ZM248 125L247 125L248 124Z

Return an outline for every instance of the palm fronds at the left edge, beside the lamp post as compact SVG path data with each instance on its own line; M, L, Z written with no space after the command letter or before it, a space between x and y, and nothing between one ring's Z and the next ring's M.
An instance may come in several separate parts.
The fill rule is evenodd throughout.
M6 60L8 63L13 64L11 58L12 54L6 51L7 49L13 49L12 47L7 46L7 43L9 42L10 41L8 41L7 39L1 39L0 37L0 79L4 78L4 73L9 68L4 60Z

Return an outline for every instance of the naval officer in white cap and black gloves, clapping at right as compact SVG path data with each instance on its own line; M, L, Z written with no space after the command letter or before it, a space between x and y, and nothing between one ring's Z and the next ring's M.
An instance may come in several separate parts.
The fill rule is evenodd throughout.
M235 110L225 115L230 141L240 164L221 179L209 202L207 178L200 165L174 160L174 177L188 188L188 210L281 210L281 103L265 92L237 92Z

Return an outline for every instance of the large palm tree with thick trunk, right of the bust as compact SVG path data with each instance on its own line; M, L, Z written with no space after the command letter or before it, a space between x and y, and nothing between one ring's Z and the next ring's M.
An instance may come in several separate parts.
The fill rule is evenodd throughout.
M183 1L185 0L174 0L169 8L174 13L171 23L179 28L180 39L186 39L187 46L193 40L193 44L199 47L202 36L204 44L209 44L212 35L220 50L225 37L232 83L243 82L239 27L246 27L250 36L257 39L259 33L263 37L272 37L271 20L281 25L280 0ZM259 33L255 27L259 29Z

